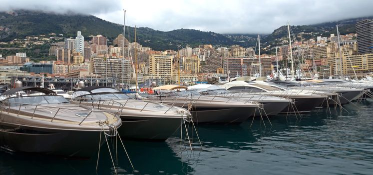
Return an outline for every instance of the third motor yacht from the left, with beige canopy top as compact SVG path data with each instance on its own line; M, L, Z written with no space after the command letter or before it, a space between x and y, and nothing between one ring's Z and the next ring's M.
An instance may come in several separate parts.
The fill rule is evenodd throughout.
M241 123L252 116L260 103L235 97L201 95L180 85L163 85L153 88L156 95L148 100L156 100L188 108L194 122L200 123ZM186 101L193 103L185 104Z

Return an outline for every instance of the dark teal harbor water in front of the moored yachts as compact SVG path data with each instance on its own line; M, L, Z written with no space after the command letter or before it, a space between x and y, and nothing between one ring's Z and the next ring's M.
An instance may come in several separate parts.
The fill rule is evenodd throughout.
M164 142L124 140L135 170L118 146L118 174L373 174L372 106L367 99L343 111L279 115L270 118L272 126L266 118L251 127L252 120L196 124L202 147L189 135L193 151L187 141L180 145L180 131ZM65 159L2 148L0 174L115 174L106 145L99 155L96 170L97 154Z

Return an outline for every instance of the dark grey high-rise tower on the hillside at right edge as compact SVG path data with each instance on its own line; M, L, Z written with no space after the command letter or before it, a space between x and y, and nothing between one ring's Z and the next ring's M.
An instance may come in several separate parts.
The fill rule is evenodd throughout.
M356 34L359 54L373 53L373 20L356 22Z

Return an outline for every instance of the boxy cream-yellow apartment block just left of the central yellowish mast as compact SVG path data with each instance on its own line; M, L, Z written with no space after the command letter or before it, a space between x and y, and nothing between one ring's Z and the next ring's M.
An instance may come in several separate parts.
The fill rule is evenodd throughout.
M160 76L164 82L171 82L172 78L171 55L153 54L149 56L149 74Z

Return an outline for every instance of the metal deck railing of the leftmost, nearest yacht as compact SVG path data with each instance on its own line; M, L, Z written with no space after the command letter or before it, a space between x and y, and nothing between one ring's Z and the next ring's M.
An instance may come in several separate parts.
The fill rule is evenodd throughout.
M13 108L11 106L11 104L16 104L16 106L18 106L19 104L19 107L18 109ZM1 101L0 102L0 112L7 112L7 114L9 113L16 113L17 116L20 115L21 113L21 106L22 105L28 105L28 106L35 106L35 108L33 109L33 112L32 112L32 115L31 115L31 119L35 119L35 118L41 118L41 117L36 117L35 116L35 112L36 112L36 109L37 107L47 107L47 108L54 108L56 109L56 112L54 113L53 117L51 117L50 119L50 122L53 122L53 120L55 120L55 117L57 116L57 113L60 112L60 109L66 109L66 110L75 110L75 111L78 111L78 112L82 112L82 111L85 111L85 112L89 112L89 113L84 113L83 116L85 116L84 118L82 118L82 120L79 122L79 125L88 117L88 116L91 116L91 113L92 112L110 112L110 113L115 113L113 114L113 118L114 119L117 115L118 115L118 112L120 110L95 110L95 109L82 109L82 108L73 108L73 107L59 107L59 106L51 106L51 105L43 105L43 104L33 104L33 103L21 103L21 102L11 102L11 101ZM15 109L15 112L11 112L10 110L11 109ZM51 112L51 111L49 111ZM51 112L51 114L53 114ZM79 113L75 113L75 114L79 114ZM22 115L22 114L21 114ZM24 115L24 114L23 114ZM106 115L105 115L106 116ZM80 116L78 117L75 117L75 116L64 116L64 117L69 117L69 118L81 118ZM48 119L48 118L45 118L45 119ZM44 119L44 120L45 120ZM96 118L96 119L99 119L99 118Z

